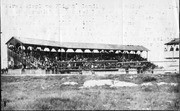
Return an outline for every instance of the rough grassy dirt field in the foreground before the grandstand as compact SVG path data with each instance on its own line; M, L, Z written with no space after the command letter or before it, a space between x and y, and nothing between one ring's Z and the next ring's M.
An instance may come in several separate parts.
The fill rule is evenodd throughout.
M137 86L82 88L106 79ZM180 110L178 83L180 74L1 76L1 110Z

